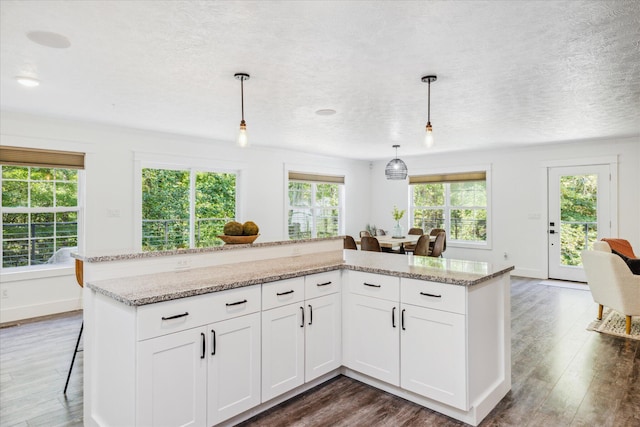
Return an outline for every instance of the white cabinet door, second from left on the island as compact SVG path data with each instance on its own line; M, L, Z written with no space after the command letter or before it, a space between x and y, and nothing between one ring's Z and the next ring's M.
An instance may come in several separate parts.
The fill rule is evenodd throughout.
M260 313L209 325L207 424L260 404Z

